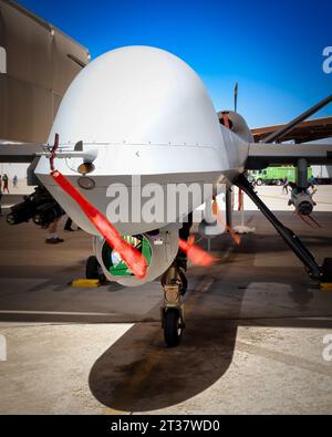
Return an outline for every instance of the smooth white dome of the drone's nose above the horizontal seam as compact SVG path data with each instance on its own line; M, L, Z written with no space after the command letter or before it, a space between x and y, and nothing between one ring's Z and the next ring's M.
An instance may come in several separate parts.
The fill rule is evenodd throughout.
M159 49L127 46L85 66L55 117L60 142L216 145L219 123L198 75Z

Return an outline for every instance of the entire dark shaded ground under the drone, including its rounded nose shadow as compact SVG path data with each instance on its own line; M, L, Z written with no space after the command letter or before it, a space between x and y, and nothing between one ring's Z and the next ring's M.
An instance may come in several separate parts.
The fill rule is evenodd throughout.
M332 251L331 216L324 217L324 229L308 230L304 236L310 249L321 259ZM3 311L0 321L135 323L92 366L91 393L103 405L124 412L177 405L203 393L227 372L239 345L239 326L332 327L332 293L322 293L310 284L303 268L294 263L293 254L268 226L263 232L245 237L240 247L227 235L216 238L212 250L218 249L215 253L221 257L220 263L208 269L189 269L187 327L178 347L167 348L164 344L159 284L142 285L142 292L117 284L96 291L65 285L84 270L81 260L89 247L85 248L85 240L79 235L77 241L73 240L76 249L72 253L80 261L64 267L54 268L50 263L39 268L38 261L25 266L22 258L17 269L4 246L0 308L10 311ZM32 250L38 235L30 228L29 232L24 238L30 238ZM8 233L11 241L13 231ZM13 241L21 247L19 239ZM61 253L64 257L68 249L64 246L59 257ZM92 309L97 314L90 314ZM112 312L107 313L107 309Z

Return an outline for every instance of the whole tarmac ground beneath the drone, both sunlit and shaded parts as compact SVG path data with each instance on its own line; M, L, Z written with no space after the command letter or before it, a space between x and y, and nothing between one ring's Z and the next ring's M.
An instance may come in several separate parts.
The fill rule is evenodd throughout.
M315 229L277 215L319 263L332 257L332 212L315 212ZM0 413L331 414L332 292L310 281L259 211L246 223L256 233L240 246L229 235L211 241L216 266L189 267L187 327L166 348L158 281L73 289L90 237L61 231L64 243L46 246L33 223L2 217Z

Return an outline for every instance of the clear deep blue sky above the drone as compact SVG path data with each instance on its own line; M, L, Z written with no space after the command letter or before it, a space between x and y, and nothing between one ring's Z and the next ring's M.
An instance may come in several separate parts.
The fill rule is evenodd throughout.
M234 107L250 127L284 123L332 92L322 70L332 45L331 0L20 0L85 45L92 59L154 45L186 61L216 110ZM332 115L332 104L318 116Z

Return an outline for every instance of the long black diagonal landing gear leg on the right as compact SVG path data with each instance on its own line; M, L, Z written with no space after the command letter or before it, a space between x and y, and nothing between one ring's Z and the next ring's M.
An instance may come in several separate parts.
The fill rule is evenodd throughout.
M294 252L294 254L300 259L300 261L304 264L305 270L310 278L319 280L321 282L332 282L332 259L326 258L322 267L320 267L310 250L300 238L289 228L283 226L277 217L270 211L270 209L266 206L266 204L258 197L253 187L248 181L248 179L240 175L235 183L240 189L242 189L250 199L257 205L257 207L261 210L261 212L266 216L266 218L270 221L270 223L274 227L274 229L282 237L284 242L290 247L290 249Z

